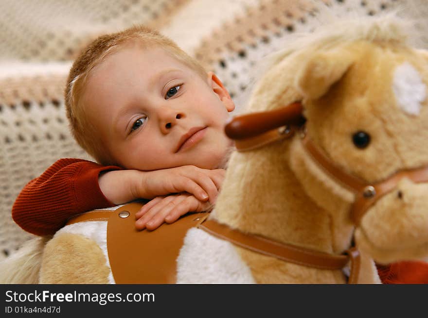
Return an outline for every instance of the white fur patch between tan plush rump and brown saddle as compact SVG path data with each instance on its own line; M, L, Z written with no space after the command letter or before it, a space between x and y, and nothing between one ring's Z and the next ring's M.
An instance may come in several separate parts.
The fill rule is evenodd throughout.
M110 268L110 262L108 261L108 252L107 252L107 221L87 221L87 222L78 222L67 225L55 233L59 235L61 233L72 233L80 234L92 241L95 241L101 248L106 257L106 265ZM108 276L110 284L115 284L113 279L113 274L111 273Z

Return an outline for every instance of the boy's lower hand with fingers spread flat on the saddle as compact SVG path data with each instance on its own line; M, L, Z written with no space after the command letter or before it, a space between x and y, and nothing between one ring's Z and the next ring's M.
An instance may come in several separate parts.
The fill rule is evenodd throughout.
M154 230L163 222L173 223L188 212L209 211L213 205L199 201L195 196L187 193L156 197L135 214L137 230Z

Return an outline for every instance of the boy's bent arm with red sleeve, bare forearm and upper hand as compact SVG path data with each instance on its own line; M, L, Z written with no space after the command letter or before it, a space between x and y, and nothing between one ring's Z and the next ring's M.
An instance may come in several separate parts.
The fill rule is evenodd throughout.
M222 169L183 166L138 171L60 159L25 185L12 207L12 218L27 232L49 235L76 214L136 199L188 192L212 201L223 178Z

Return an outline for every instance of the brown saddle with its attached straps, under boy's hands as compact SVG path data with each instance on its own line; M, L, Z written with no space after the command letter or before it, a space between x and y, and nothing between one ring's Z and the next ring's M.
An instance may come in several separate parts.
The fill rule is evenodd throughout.
M357 284L360 257L352 248L346 255L306 250L258 235L233 230L208 212L188 213L172 224L163 223L154 231L137 231L135 214L144 203L128 203L115 211L94 210L72 217L67 225L85 221L107 221L107 251L116 284L176 284L177 257L189 229L198 227L234 245L287 262L322 269L342 269L351 261L348 284Z

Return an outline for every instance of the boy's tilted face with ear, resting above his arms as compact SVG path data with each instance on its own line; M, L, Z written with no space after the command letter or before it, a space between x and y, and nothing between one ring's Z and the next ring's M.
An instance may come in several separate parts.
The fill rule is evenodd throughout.
M128 169L213 169L231 145L223 129L234 105L221 82L156 46L128 43L107 57L83 102L110 157Z

